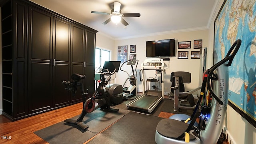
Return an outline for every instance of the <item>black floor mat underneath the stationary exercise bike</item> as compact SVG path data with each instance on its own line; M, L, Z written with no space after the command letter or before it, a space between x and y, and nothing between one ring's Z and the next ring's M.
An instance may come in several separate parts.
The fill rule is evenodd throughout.
M104 112L97 109L84 116L87 130L66 122L59 122L42 130L34 132L50 144L82 144L128 114L130 111L119 109L119 112ZM79 116L71 119L76 120Z

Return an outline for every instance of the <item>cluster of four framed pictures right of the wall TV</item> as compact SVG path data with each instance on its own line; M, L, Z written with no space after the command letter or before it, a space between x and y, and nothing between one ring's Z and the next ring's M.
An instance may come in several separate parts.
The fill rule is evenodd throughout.
M178 42L178 49L189 49L191 48L191 41ZM194 49L202 48L202 40L194 40ZM188 50L178 51L178 59L188 59ZM191 51L191 59L200 59L200 50Z

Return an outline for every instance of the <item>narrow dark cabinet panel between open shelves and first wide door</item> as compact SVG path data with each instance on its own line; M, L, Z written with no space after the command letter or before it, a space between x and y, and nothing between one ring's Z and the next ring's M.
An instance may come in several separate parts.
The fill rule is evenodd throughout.
M27 24L28 7L14 1L13 18L16 20L16 28L13 38L13 117L28 114L28 45Z

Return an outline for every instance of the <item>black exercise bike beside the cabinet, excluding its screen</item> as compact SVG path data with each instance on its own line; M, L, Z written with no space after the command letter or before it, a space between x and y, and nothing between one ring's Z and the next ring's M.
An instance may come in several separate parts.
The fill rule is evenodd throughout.
M62 84L64 84L65 89L68 91L71 91L73 95L76 93L77 87L80 87L82 90L82 101L83 101L83 109L79 118L77 120L66 119L64 120L64 122L68 122L70 124L76 124L83 130L86 130L87 128L89 128L89 126L83 122L83 118L87 113L91 113L97 108L101 108L102 110L105 110L108 112L118 112L119 109L110 108L111 99L114 100L115 98L111 98L108 91L104 89L104 87L106 87L106 85L110 81L111 75L114 74L115 72L116 72L116 68L114 68L113 72L109 72L108 69L104 69L100 73L96 74L100 76L101 81L92 96L86 96L88 93L84 92L84 86L82 83L79 82L80 80L85 78L85 75L72 74L71 78L73 82L63 81ZM108 78L105 78L105 76L108 76Z

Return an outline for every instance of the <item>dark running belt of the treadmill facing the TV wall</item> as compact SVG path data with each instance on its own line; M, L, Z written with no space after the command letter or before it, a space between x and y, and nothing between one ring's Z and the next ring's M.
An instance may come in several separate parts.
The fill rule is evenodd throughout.
M148 109L159 97L145 95L130 106Z

